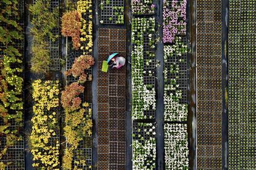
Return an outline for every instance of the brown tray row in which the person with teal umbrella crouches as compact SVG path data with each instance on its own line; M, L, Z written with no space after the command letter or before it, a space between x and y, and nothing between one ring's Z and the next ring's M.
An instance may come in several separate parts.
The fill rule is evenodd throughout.
M126 66L102 71L109 54L126 58L126 30L98 30L98 169L126 169ZM130 134L131 135L131 134Z

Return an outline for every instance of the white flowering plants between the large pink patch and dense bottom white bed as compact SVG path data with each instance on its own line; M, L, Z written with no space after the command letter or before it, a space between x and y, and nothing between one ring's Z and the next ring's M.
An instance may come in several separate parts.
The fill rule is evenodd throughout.
M169 59L180 57L187 53L187 45L181 42L181 37L176 37L173 45L164 46L164 63ZM179 62L182 62L180 59ZM186 121L187 105L179 103L182 92L178 90L179 84L176 79L168 79L168 74L179 73L179 65L171 63L170 68L164 67L164 120L165 121Z

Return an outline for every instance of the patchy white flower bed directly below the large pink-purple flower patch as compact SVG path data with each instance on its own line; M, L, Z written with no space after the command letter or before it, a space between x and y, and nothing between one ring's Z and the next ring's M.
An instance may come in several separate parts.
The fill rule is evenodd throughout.
M182 80L179 77L182 76L179 74L182 70L179 64L187 64L187 45L181 40L181 37L176 37L173 45L164 46L164 121L187 120L187 104L181 103L181 85L177 84L178 79ZM184 88L187 89L187 70L184 74ZM187 91L184 95L187 95Z

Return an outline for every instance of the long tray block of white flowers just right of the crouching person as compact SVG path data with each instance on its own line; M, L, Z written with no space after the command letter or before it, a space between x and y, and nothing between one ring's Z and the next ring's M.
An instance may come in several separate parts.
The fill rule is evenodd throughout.
M155 118L155 18L132 20L132 119Z

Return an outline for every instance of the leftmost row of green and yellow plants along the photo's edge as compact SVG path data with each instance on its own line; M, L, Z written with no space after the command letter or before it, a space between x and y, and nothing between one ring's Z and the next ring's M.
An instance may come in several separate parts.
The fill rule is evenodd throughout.
M23 140L23 28L17 0L1 1L0 6L0 52L5 54L0 59L0 169L6 169L15 159L7 158L8 149Z

